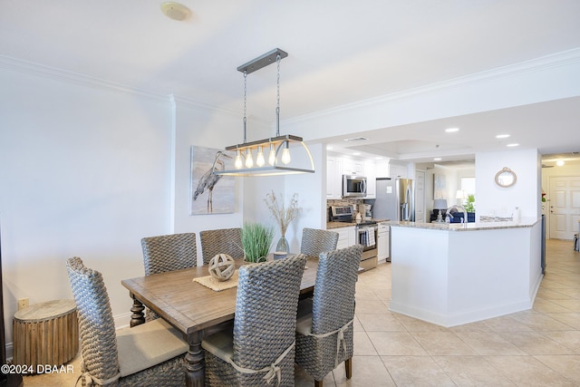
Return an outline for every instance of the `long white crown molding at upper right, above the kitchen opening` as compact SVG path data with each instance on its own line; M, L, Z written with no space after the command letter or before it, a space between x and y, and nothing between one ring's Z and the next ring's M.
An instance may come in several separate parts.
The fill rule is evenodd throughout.
M495 69L486 70L480 73L460 76L457 78L449 79L447 81L430 83L424 86L403 90L401 92L392 92L389 94L381 95L379 97L373 97L358 102L343 104L324 111L315 111L313 113L304 114L299 117L284 120L283 122L285 124L292 124L310 121L329 115L334 115L340 112L355 111L357 109L365 108L368 106L382 105L391 101L408 99L421 94L429 94L432 92L441 92L445 90L457 89L460 87L468 87L478 83L507 79L525 73L539 73L555 67L567 66L578 62L580 62L580 48L575 48L561 53L553 53L546 56L541 56L539 58L525 62L508 64L506 66L497 67Z

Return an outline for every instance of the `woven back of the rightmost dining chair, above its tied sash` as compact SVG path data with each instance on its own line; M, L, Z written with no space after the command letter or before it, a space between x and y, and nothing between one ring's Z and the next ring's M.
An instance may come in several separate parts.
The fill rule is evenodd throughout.
M354 292L362 245L323 253L314 285L312 333L332 332L354 318Z

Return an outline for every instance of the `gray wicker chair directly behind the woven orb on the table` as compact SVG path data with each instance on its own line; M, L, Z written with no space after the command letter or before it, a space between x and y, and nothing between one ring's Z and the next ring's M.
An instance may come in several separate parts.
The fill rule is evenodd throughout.
M239 227L200 231L204 265L208 265L209 260L218 254L227 254L234 259L244 258L241 233Z

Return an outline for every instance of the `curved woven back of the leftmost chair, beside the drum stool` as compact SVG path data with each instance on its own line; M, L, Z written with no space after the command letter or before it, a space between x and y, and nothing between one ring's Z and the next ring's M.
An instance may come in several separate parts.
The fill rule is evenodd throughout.
M119 373L117 339L111 305L102 275L85 267L78 256L66 262L81 335L82 364L100 380Z

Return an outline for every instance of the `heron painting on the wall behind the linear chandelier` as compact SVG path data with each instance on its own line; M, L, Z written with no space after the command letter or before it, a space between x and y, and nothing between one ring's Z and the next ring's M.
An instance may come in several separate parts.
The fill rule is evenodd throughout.
M189 215L228 214L236 209L236 180L214 175L226 169L232 152L191 146L191 201Z

